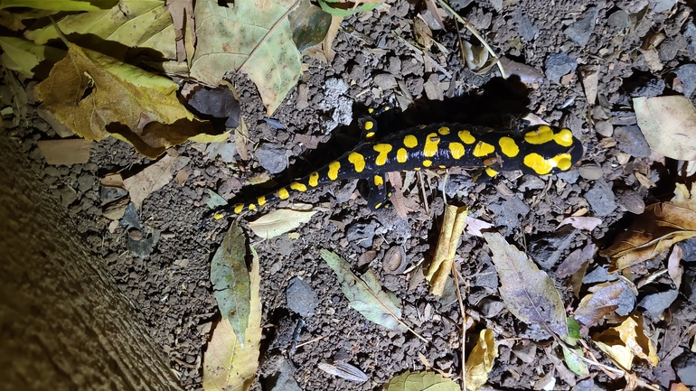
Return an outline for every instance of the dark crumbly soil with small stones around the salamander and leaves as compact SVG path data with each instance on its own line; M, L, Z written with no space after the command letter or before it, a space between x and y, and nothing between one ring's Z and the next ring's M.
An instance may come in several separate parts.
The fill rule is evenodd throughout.
M631 98L684 91L692 94L696 75L680 68L696 58L691 8L681 2L673 5L674 1L669 0L453 3L496 53L534 69L524 75L526 86L519 78L501 79L497 68L483 76L467 70L460 59L458 36L474 43L476 40L466 29L457 32L451 20L446 30L433 32L448 53L434 46L428 56L437 67L425 65L423 57L412 49L412 21L421 12L419 5L399 0L347 18L334 42L336 56L330 64L305 57L306 74L272 116L282 127L265 121L259 94L249 79L244 75L234 78L253 142L249 144L250 160L242 161L239 155L233 162L211 158L205 144L175 147L177 154L187 158L181 169L189 177L183 185L170 182L145 200L137 211L143 238L134 236L133 228L112 224L102 216L101 204L109 195L99 187L99 178L109 172L121 172L124 177L135 174L150 163L148 159L129 145L108 139L95 145L89 163L49 166L36 141L57 135L36 115L35 107L27 109L28 124L16 126L5 118L5 127L22 140L21 148L32 159L35 172L70 210L94 252L104 257L118 286L170 358L186 389L201 387L203 353L220 319L212 296L210 262L230 221L211 218L211 209L206 205L210 200L208 190L230 202L268 191L249 185L252 177L268 173L264 167L272 164L259 163L256 157L255 151L263 144L277 144L287 150L288 167L282 170L281 159L282 173L274 176L278 184L287 184L357 144L360 133L354 119L364 114L366 107L398 104L407 93L416 101L415 107L401 116L385 117L381 131L457 121L517 132L527 109L551 124L568 126L584 144L586 153L580 166L585 171L550 178L512 172L490 184L473 184L468 174L453 170L447 179L447 200L467 205L475 217L492 222L497 232L518 247L526 244L532 258L552 276L571 251L588 243L607 247L616 232L635 216L628 210L638 211L645 203L670 194L676 164L654 160L649 150L645 153L646 144L630 108ZM649 7L647 12L645 7ZM664 10L654 11L660 7ZM663 33L664 41L655 49L645 46L656 33ZM650 61L657 61L662 69L657 70L646 56L655 57ZM596 66L599 72L597 104L587 101L579 78L583 66ZM390 83L391 78L399 84ZM336 90L343 92L332 92ZM336 123L336 118L341 122L341 116L343 120L352 118L352 124ZM597 133L600 121L602 134ZM636 179L636 172L655 182L656 187L646 189ZM361 195L362 183L355 188L352 182L296 197L319 207L315 217L299 228L298 237L284 234L260 241L247 229L260 256L265 331L259 381L253 389L272 389L274 380L268 379L277 377L277 368L290 368L282 364L282 357L290 346L297 320L286 303L288 282L293 277L309 284L318 297L315 314L306 318L306 328L299 337L300 343L311 342L296 349L291 358L296 368L290 373L301 389L380 389L406 369L425 369L426 361L432 368L459 378L463 365L459 307L451 295L437 298L428 293L422 276L422 265L428 264L437 243L438 218L444 209L438 191L443 174L423 172L427 200L421 196L418 181L405 189L404 195L414 209L407 219L400 219L393 209L369 210ZM587 209L588 216L601 218L602 224L592 232L556 228L561 219L580 209ZM242 226L256 217L245 216ZM363 237L347 235L356 224L365 224L373 232ZM156 237L149 256L134 256L133 241ZM534 245L544 240L551 243L551 256L555 258L542 249L535 250L541 245ZM382 258L390 247L399 246L406 249L408 272L390 275L382 270ZM144 247L145 252L150 251L147 244ZM386 330L353 311L334 273L318 255L321 248L343 256L355 271L371 268L381 284L402 301L405 320L431 343L425 344L408 332ZM577 386L582 379L563 366L560 350L547 348L548 335L516 320L500 305L499 282L483 239L467 236L457 254L466 311L475 320L466 330L466 352L484 328L493 329L496 340L501 341L500 357L495 360L489 384L498 389L541 387L547 383L540 379L550 375L556 379L554 389ZM607 261L597 256L590 269L595 267L606 268ZM569 309L575 308L578 302L568 282L557 279L556 283L564 303ZM691 305L681 296L672 304L672 312L691 313ZM675 315L672 321L647 313L645 316L651 322L648 330L658 335L681 335L688 325L683 321L685 315ZM668 343L662 336L656 341L661 358L679 343ZM682 348L688 348L687 342L681 341ZM594 353L601 362L612 365L601 352ZM362 369L369 381L353 383L328 375L317 368L326 361L348 362ZM597 368L590 371L600 387L625 386L623 379L612 380ZM669 361L659 370L645 365L635 371L644 380L663 387L669 387L675 378Z

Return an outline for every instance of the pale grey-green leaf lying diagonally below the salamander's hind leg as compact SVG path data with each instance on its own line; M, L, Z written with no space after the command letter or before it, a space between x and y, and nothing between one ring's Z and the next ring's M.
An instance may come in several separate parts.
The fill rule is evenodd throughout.
M321 250L321 256L338 277L341 290L353 310L360 312L368 321L380 324L390 330L404 330L401 321L401 303L389 291L383 290L372 270L360 278L354 275L342 257L328 250Z

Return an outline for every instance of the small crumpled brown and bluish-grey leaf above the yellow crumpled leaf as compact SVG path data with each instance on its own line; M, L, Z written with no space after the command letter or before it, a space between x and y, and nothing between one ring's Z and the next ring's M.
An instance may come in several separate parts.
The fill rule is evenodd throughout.
M575 319L583 326L584 330L597 324L599 320L616 309L629 309L635 306L635 294L623 281L617 280L602 284L595 284L589 288L590 294L584 296L575 310ZM627 312L620 311L620 315Z

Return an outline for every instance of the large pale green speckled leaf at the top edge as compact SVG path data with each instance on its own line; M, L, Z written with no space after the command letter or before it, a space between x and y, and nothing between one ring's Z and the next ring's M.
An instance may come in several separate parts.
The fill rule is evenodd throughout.
M271 116L299 79L301 61L293 42L288 12L296 0L216 0L195 5L198 45L191 76L212 86L225 73L245 70Z

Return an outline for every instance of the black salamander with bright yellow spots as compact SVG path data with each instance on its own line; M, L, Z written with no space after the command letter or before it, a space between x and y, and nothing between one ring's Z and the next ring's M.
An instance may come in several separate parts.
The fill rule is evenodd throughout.
M234 212L257 210L298 192L348 179L366 179L371 191L368 205L380 209L388 205L390 196L386 172L482 167L491 178L500 171L513 170L547 175L568 171L583 154L582 144L572 132L555 126L531 126L521 136L513 136L476 126L433 124L409 128L379 141L372 141L376 129L372 118L364 121L362 128L366 141L353 151L286 187L253 202L237 204Z

